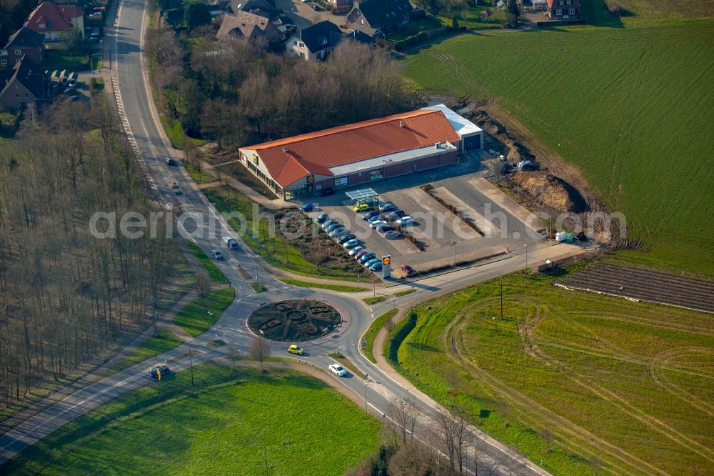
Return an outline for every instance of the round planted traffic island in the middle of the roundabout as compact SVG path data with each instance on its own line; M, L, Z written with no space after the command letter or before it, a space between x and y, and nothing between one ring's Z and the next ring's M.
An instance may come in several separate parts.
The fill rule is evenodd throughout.
M332 332L342 322L337 309L314 299L271 302L248 317L254 334L281 342L317 339Z

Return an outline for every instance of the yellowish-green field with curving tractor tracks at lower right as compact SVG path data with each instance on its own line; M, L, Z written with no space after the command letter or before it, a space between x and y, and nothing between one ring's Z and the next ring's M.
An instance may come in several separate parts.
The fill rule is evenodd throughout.
M482 430L553 474L591 474L592 455L607 472L707 474L710 316L554 280L504 277L503 320L498 280L423 303L383 350L420 390L466 408ZM458 397L446 397L454 387ZM550 452L545 427L555 435Z

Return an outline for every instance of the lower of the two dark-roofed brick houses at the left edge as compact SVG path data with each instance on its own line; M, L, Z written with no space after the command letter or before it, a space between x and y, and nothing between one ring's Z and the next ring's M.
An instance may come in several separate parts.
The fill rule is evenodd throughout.
M17 109L49 97L47 74L31 59L23 57L11 69L0 70L0 110Z

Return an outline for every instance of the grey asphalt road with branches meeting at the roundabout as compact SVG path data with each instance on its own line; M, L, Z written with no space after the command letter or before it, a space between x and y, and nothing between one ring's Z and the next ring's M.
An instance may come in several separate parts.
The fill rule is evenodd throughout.
M116 28L107 28L108 35L104 43L105 48L109 47L114 51L112 66L116 77L113 79L112 85L119 91L117 106L129 136L129 142L144 161L145 167L143 168L151 176L152 191L162 203L169 206L178 198L184 212L196 218L206 218L198 220L195 227L188 222L185 224L186 229L193 231L192 239L206 252L216 248L225 249L221 243L221 236L227 234L224 231L228 229L225 219L216 212L182 167L168 167L164 162L164 157L174 154L174 150L171 149L168 139L161 131L158 116L152 106L151 92L145 71L142 68L141 44L147 25L145 3L139 0L123 0L119 4L116 14L118 19L115 24ZM174 182L183 189L184 193L181 197L176 197L171 191L171 184ZM214 222L213 225L210 223L211 221ZM409 284L398 284L396 287L389 288L389 292L393 293L407 287L415 287L418 292L399 298L392 297L369 309L361 302L361 298L366 297L365 295L296 288L284 284L273 277L270 267L265 262L246 252L247 249L249 248L241 243L241 249L238 251L224 252L226 261L216 262L230 280L231 286L235 287L236 301L226 309L226 312L211 330L159 357L134 365L85 387L1 435L0 465L16 455L17 452L76 417L80 417L99 405L137 387L149 385L152 380L146 370L151 365L166 360L171 362L172 370L183 370L188 366L189 349L194 355L194 363L222 357L223 352L226 352L224 349L207 347L206 344L213 339L223 339L226 342L234 341L240 352L246 352L248 342L253 338L253 334L246 325L248 315L265 302L295 299L296 297L325 299L326 302L336 307L345 319L343 326L336 333L304 344L303 347L307 351L304 360L324 370L333 363L327 355L330 352L335 352L339 345L350 360L368 372L369 379L365 384L363 380L354 376L343 379L333 377L351 388L357 395L365 395L370 412L379 418L383 418L383 415L388 412L388 402L395 395L411 397L423 415L416 431L416 437L418 437L419 428L429 425L428 420L436 411L436 404L428 398L416 395L413 392L415 389L396 382L381 369L368 362L361 354L359 346L363 332L373 317L388 309L393 307L408 308L425 299L436 297L438 294L491 279L499 274L523 269L525 265L522 255L513 254L507 259L484 264L481 267L460 269L447 275L422 279ZM238 266L254 270L258 274L259 281L268 288L268 291L255 294L241 274L237 272ZM285 347L286 344L283 343L271 343L273 354L286 354ZM498 474L548 474L533 463L524 461L518 455L513 455L504 445L491 438L481 434L474 434L473 438L478 438L481 441L479 444L480 462L488 466L491 466L495 461L502 463L500 469L496 471Z

